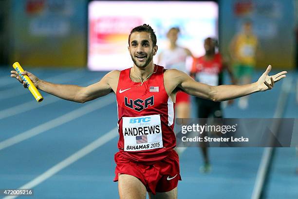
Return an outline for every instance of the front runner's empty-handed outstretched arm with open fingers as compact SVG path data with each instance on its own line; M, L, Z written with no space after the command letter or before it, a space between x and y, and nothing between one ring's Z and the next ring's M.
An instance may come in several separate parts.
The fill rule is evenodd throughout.
M178 70L171 70L170 76L175 80L177 86L189 95L213 101L224 101L240 98L258 91L272 89L274 82L286 77L286 71L282 71L273 76L268 76L270 70L271 65L268 66L267 70L261 75L258 81L245 85L210 86L197 82Z

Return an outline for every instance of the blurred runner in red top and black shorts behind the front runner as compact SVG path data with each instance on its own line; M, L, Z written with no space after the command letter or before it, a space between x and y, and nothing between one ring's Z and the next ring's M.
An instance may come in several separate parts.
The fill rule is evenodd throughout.
M223 70L227 70L232 83L236 84L236 80L229 65L223 60L220 53L215 52L216 46L216 39L206 38L204 40L205 55L193 59L190 76L199 82L211 86L218 86L223 84ZM198 118L223 118L221 102L203 98L196 98L196 102L198 105ZM205 137L205 132L203 134L202 137ZM201 149L204 158L204 166L202 166L200 170L206 173L210 171L211 166L207 147L204 142L202 142Z

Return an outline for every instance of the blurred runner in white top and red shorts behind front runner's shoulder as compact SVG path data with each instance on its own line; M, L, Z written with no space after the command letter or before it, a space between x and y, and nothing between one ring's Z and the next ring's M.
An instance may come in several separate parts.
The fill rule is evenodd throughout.
M177 69L186 72L186 58L192 56L187 48L178 46L177 40L180 29L172 27L168 30L168 47L158 56L158 63L165 69ZM175 103L176 118L190 117L190 97L186 93L179 91L176 95Z

